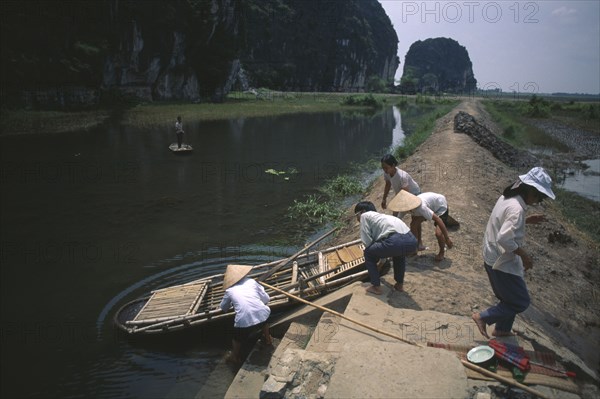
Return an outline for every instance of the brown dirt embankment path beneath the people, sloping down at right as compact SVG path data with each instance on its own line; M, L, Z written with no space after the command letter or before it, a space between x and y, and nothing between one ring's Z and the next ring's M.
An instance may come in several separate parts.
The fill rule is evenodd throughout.
M483 232L502 190L528 167L511 168L469 136L455 133L453 121L459 111L472 115L492 132L499 132L477 100L465 100L438 120L431 137L400 165L423 192L444 194L450 215L461 225L450 232L455 246L441 262L434 261L437 242L432 223L423 225L423 242L429 249L409 258L406 293L390 299L396 301L394 306L470 315L496 302L483 269ZM364 198L380 211L383 187L380 177ZM598 243L591 242L564 220L552 201L529 207L528 214L538 213L545 214L546 220L528 225L526 234L527 250L534 258L534 267L525 277L532 305L520 317L541 327L558 344L599 371L600 294L595 288L600 281ZM409 222L409 218L405 216L404 221ZM352 224L342 230L336 241L357 237L358 224ZM520 328L518 320L516 329Z

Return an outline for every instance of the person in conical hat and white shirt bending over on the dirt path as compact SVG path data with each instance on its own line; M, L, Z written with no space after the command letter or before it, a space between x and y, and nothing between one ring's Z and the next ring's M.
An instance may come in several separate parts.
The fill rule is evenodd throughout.
M434 260L439 262L444 259L446 247L452 248L454 245L448 235L448 229L446 227L450 218L446 197L442 194L431 192L415 196L409 192L402 191L390 201L389 208L398 212L410 211L412 215L410 231L417 237L418 251L424 251L426 249L421 238L421 225L425 220L433 220L435 226L435 238L437 239L439 246L439 252ZM457 223L454 219L452 219L452 221L453 223Z

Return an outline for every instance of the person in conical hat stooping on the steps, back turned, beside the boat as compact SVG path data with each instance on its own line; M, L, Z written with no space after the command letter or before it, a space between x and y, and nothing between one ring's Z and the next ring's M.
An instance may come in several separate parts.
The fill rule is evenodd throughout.
M235 311L232 351L227 360L236 365L242 363L242 345L252 333L262 330L263 342L266 345L273 343L267 324L271 315L271 309L267 306L269 294L254 279L246 277L250 270L252 266L228 265L223 277L225 294L220 307L224 312L231 307Z

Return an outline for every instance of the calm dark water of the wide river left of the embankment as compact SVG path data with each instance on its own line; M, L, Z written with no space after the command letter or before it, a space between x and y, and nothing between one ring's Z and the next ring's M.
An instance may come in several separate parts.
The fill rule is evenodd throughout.
M2 397L193 397L213 372L223 383L209 391L222 395L224 334L130 342L114 312L294 252L308 239L286 209L401 140L399 118L184 120L190 156L168 151L173 121L1 138Z

